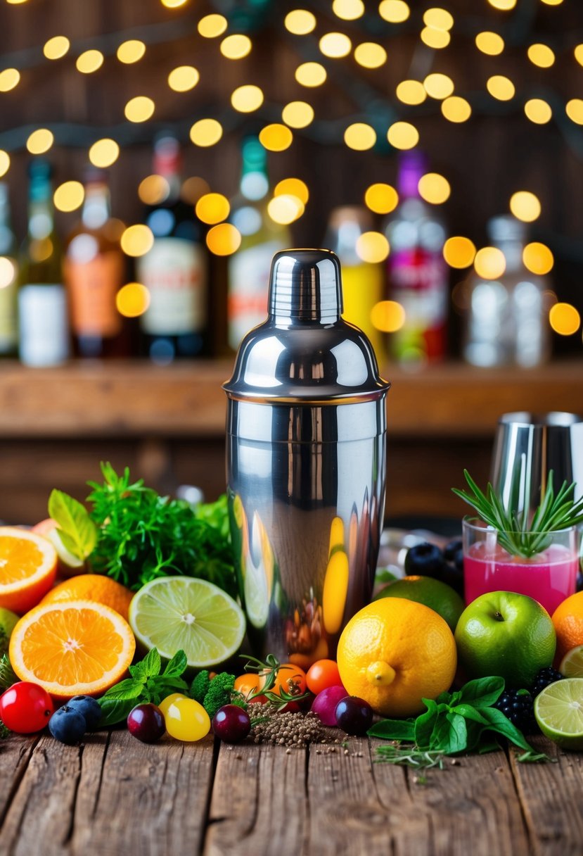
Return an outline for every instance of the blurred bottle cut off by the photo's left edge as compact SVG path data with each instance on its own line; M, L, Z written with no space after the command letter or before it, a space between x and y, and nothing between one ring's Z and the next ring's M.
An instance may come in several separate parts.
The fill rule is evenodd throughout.
M16 238L12 231L8 185L0 182L0 357L13 357L18 351L18 315L16 312Z

